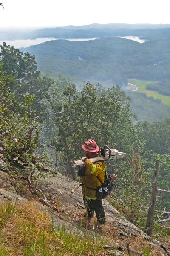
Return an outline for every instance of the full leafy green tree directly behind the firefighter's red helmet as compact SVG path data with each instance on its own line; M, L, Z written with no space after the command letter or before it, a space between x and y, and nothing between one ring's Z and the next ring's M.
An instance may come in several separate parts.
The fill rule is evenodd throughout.
M60 94L62 101L58 89L54 87L53 92L42 94L55 113L58 129L53 134L53 143L56 151L63 152L68 163L82 155L81 145L87 138L94 138L101 146L112 144L114 135L120 130L119 125L125 126L128 122L133 126L133 115L127 103L129 98L119 87L104 90L87 83L79 92L74 84L68 84ZM55 94L57 96L54 97Z

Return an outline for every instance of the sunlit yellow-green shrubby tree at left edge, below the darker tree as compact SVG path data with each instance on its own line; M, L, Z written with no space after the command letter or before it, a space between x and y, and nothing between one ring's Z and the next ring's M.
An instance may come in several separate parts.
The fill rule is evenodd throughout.
M1 68L1 66L0 66ZM37 153L39 130L35 111L31 110L33 96L23 96L18 101L11 92L11 76L0 70L0 140L3 141L3 155L14 174L24 173L31 180L44 176L48 158ZM18 113L18 109L21 113Z

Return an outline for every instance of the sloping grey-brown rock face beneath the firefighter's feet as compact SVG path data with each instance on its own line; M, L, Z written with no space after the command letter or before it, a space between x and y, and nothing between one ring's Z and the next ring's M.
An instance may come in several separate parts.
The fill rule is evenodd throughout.
M12 185L12 183L13 185ZM29 189L28 182L25 180L16 180L10 177L7 173L0 171L0 203L8 200L16 201L18 204L25 204L28 201L34 201L37 208L47 212L52 216L55 227L60 225L71 225L73 232L76 232L85 214L85 207L83 204L81 189L78 189L74 194L70 190L77 186L77 182L69 177L58 173L56 177L47 174L45 179L40 180L37 184L39 188L47 197L48 202L57 207L59 212L47 207L43 204L42 195L37 191ZM21 185L24 189L21 189ZM22 191L23 190L23 191ZM35 194L36 193L36 194ZM142 230L130 223L123 217L114 207L109 204L107 200L103 200L105 208L107 223L101 234L91 231L91 235L102 235L108 237L108 244L112 249L105 255L142 255L141 248L149 247L153 255L170 255L166 248L147 236ZM94 222L96 219L94 218ZM91 229L93 225L91 225ZM82 234L87 230L81 228ZM118 249L114 251L113 249Z

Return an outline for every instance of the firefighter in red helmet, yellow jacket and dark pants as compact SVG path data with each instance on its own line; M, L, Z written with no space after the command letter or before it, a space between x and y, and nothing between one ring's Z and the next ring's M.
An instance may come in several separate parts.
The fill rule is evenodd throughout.
M82 145L82 149L86 152L86 156L82 157L85 162L84 174L81 175L82 195L87 210L88 220L97 217L97 227L99 230L105 224L105 212L102 206L101 185L105 180L106 164L105 161L92 163L89 158L98 157L99 147L94 140L88 139ZM100 181L102 182L100 182ZM87 221L88 222L88 221Z

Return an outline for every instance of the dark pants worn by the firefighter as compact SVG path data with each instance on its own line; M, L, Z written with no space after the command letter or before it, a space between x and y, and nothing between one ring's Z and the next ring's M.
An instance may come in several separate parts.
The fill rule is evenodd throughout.
M96 213L97 221L105 224L105 212L102 206L102 200L85 199L84 204L87 209L88 218L93 218L94 212Z

